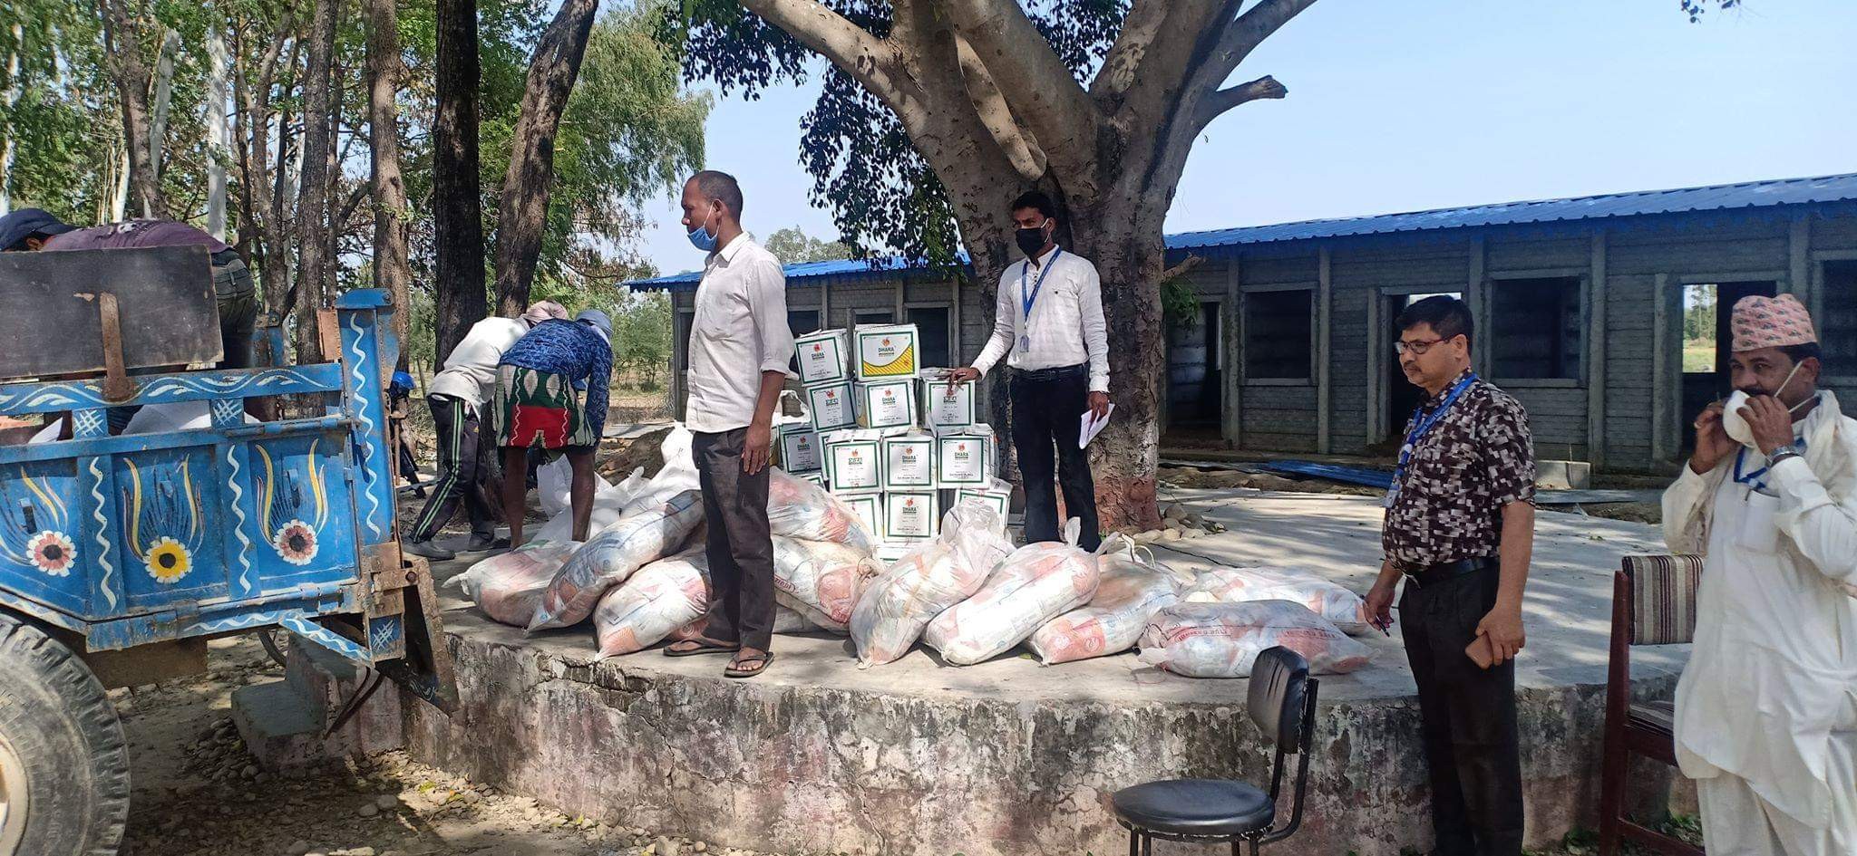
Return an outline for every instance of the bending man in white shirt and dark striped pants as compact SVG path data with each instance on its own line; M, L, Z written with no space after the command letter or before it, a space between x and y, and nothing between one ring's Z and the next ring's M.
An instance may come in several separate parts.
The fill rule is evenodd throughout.
M468 550L498 546L496 516L479 485L479 418L485 401L496 392L496 364L503 358L503 351L550 318L566 319L568 310L559 303L540 301L522 318L485 318L472 325L464 342L446 357L446 368L433 375L433 383L425 388L425 403L433 409L433 427L438 431L438 481L420 516L412 518L409 540L401 550L427 559L455 559L457 553L433 544L433 538L451 522L461 501L470 514Z

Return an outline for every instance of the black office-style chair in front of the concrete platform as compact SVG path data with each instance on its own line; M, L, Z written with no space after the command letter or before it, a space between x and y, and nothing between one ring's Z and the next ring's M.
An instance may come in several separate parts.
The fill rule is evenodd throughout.
M1252 856L1261 845L1281 841L1302 826L1302 797L1309 780L1309 743L1315 737L1315 678L1309 661L1278 646L1257 655L1252 667L1250 715L1276 746L1270 791L1246 782L1172 778L1123 787L1114 795L1116 821L1129 830L1129 856L1151 856L1153 841L1231 843L1233 856L1246 841ZM1289 823L1276 828L1276 802L1283 785L1283 758L1296 756L1296 798Z

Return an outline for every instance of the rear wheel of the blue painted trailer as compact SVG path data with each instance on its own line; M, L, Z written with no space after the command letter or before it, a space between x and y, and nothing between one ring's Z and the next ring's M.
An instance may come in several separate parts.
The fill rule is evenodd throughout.
M0 613L0 856L113 856L126 819L128 746L102 683Z

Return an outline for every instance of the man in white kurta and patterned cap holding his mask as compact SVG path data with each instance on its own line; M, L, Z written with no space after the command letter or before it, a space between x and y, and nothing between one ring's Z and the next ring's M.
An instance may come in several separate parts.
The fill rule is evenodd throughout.
M1677 761L1708 852L1857 852L1857 422L1792 295L1734 305L1736 394L1695 418L1664 540L1703 553Z

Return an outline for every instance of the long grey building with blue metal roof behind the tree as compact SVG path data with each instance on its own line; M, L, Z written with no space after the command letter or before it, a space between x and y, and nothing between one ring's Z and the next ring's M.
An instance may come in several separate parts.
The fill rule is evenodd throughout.
M1417 403L1393 318L1430 293L1471 303L1476 368L1528 409L1543 459L1673 472L1694 414L1727 392L1727 312L1749 293L1799 295L1825 386L1857 394L1857 175L1181 232L1166 247L1170 266L1200 258L1181 277L1198 318L1168 332L1172 446L1389 453ZM789 323L912 321L925 366L966 364L992 325L973 280L997 271L954 273L787 266ZM696 280L630 282L672 293L680 370Z

